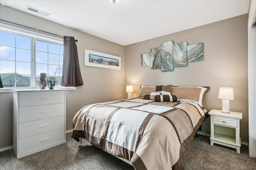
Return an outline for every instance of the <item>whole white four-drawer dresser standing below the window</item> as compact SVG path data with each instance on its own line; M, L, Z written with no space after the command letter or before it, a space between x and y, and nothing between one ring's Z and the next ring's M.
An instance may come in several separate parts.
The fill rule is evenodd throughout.
M66 90L13 90L17 158L66 142Z

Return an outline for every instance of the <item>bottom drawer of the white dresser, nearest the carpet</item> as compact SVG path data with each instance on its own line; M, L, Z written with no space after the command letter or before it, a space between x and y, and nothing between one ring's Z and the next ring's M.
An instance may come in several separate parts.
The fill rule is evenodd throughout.
M20 139L19 154L65 140L65 128Z

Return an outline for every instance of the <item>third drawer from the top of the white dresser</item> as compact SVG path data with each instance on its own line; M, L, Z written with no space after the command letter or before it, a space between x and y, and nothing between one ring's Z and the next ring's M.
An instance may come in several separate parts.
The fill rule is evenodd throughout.
M51 117L19 124L19 139L65 127L65 116Z

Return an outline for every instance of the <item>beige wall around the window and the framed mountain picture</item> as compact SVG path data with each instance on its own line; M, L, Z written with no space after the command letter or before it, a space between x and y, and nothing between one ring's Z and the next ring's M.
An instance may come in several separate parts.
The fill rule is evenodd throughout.
M81 107L95 102L106 102L125 97L123 45L32 16L7 6L0 6L0 19L78 39L76 45L84 85L66 93L66 130L73 128L72 119ZM121 57L121 70L84 66L84 49ZM11 145L12 93L0 93L0 149Z

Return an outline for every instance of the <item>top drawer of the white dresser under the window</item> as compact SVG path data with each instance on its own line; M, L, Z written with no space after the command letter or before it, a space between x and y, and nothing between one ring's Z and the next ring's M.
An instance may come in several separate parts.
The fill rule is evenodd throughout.
M20 92L19 95L20 107L57 104L65 102L64 90Z

